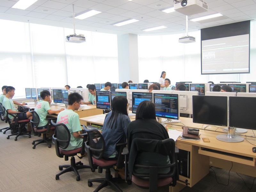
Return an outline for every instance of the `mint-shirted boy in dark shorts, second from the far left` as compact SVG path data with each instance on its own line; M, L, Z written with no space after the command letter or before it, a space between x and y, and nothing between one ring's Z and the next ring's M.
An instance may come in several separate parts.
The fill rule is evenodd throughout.
M14 114L14 113L18 113L18 114L14 114L15 116L18 116L19 120L25 120L25 119L32 119L32 113L27 112L27 113L20 113L18 111L18 109L15 108L14 106L14 101L12 100L12 97L15 94L15 88L12 86L7 86L5 88L5 92L6 95L4 97L4 101L3 101L3 106L6 109L6 111L10 114ZM17 102L16 102L17 103ZM20 104L20 103L19 103ZM20 113L20 114L19 114ZM11 121L13 121L14 117L11 115L8 115L9 119L11 119Z

